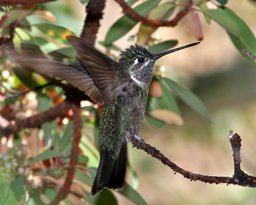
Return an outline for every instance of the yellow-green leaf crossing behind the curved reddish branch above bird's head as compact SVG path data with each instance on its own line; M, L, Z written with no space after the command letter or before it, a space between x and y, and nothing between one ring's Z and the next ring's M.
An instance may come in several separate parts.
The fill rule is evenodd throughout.
M148 19L162 20L162 21L167 20L172 15L172 13L176 8L175 6L173 6L174 4L175 4L174 2L168 2L168 3L157 6L148 14ZM151 34L156 29L157 29L156 27L141 24L139 32L137 34L137 37L138 37L137 44L140 44L140 45L147 44L147 42L150 40Z

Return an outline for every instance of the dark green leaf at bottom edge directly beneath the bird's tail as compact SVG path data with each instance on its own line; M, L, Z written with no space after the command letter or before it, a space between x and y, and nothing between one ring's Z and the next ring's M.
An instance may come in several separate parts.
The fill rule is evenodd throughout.
M89 193L86 195L89 202L93 205L117 205L116 197L108 189L102 189L102 191L94 197Z

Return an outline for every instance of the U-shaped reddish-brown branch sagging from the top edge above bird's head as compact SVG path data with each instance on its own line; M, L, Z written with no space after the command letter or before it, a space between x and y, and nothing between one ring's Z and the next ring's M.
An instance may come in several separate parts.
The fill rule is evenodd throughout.
M134 19L136 21L141 21L142 24L147 24L154 27L160 27L160 26L171 26L174 27L178 24L178 22L188 13L188 11L193 6L193 3L191 0L188 0L187 5L184 10L181 10L174 19L170 21L158 21L153 19L148 19L144 16L141 16L140 14L136 13L124 0L115 0L123 9L124 13L129 16L131 19Z

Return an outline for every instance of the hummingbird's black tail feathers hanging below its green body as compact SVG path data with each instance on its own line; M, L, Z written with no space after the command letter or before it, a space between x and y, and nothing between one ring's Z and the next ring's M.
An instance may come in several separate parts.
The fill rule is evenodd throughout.
M108 150L100 151L100 163L92 184L91 194L95 196L103 187L108 189L121 188L127 164L127 143L123 142L119 156L112 159Z

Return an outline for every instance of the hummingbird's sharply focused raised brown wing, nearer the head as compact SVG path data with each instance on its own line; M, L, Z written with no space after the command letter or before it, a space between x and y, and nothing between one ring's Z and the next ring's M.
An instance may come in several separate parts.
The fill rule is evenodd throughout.
M118 92L131 82L131 77L124 73L116 61L82 39L75 36L66 36L66 38L76 50L93 81L100 88L104 103L110 103Z

